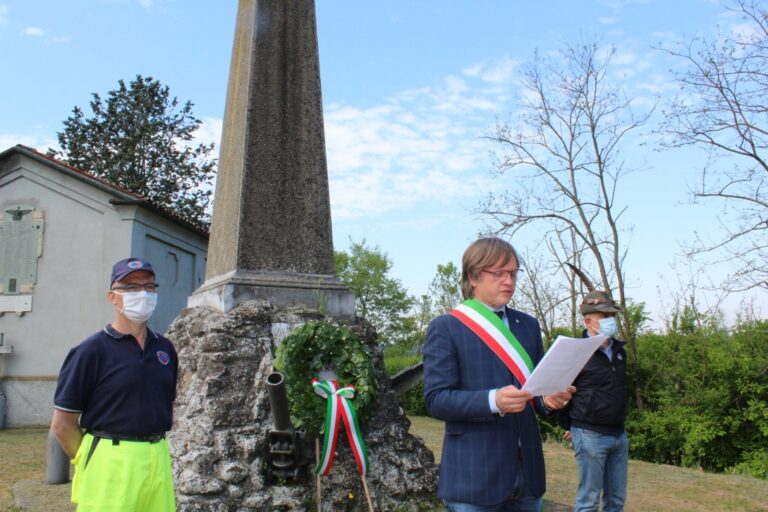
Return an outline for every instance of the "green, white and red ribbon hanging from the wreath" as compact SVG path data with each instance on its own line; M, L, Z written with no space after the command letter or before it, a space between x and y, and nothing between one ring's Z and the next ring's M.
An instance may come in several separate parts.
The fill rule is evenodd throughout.
M331 471L333 456L336 453L336 441L339 438L339 426L343 422L352 454L357 462L357 470L364 477L368 472L368 452L357 422L355 407L352 405L352 398L355 396L354 386L339 388L336 381L312 379L312 387L316 394L327 399L323 449L320 452L320 462L315 468L315 474L325 476Z

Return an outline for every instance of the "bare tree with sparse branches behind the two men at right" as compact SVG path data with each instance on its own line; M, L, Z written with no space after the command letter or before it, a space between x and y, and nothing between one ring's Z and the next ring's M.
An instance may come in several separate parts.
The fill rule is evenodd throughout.
M552 333L551 322L558 318L550 309L555 304L568 305L571 330L577 330L577 288L584 290L577 287L566 263L594 269L596 286L615 290L619 301L627 302L622 266L626 249L619 226L626 206L616 204L616 192L628 170L620 153L624 140L650 112L635 116L621 84L609 80L614 53L612 47L589 42L566 46L556 61L535 54L522 69L523 99L516 123L497 119L487 136L500 148L496 171L508 187L505 193L490 195L479 213L497 234L537 229L540 247L549 248L549 264L539 254L530 256L536 262L530 273L532 289L521 290L545 335ZM553 286L552 279L568 286ZM553 293L561 298L556 300ZM629 318L621 324L628 326ZM636 369L632 331L622 334ZM635 375L639 378L637 371ZM642 408L637 393L636 400Z

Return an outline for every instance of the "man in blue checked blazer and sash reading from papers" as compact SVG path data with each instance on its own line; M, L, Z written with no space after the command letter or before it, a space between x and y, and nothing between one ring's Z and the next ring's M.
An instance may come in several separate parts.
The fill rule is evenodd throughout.
M464 298L474 300L436 318L427 331L424 397L430 416L445 421L438 496L449 511L542 507L544 455L534 408L540 414L560 409L575 388L534 398L520 390L514 362L505 363L515 359L524 365L525 355L501 353L510 345L522 347L529 366L544 355L536 319L506 305L519 271L509 243L475 241L464 252L461 276ZM505 343L510 331L512 341Z

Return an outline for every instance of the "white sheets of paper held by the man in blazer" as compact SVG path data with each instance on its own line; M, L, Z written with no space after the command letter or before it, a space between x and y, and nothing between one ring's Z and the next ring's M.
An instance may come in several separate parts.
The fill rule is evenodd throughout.
M558 336L523 384L523 390L534 396L544 396L565 391L573 383L597 347L607 336L569 338Z

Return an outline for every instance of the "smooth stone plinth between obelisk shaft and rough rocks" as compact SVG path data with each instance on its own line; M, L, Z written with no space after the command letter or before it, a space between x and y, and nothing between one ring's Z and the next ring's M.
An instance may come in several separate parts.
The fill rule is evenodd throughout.
M334 276L236 270L208 279L187 300L189 307L228 313L250 300L276 308L303 305L337 320L355 320L355 297Z

